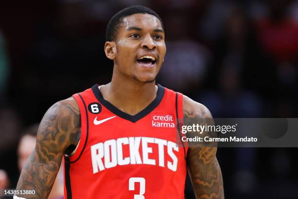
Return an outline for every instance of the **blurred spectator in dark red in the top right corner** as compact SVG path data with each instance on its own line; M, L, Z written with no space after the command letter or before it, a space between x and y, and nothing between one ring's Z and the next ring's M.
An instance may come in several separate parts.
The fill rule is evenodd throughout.
M289 0L267 1L269 16L258 21L259 39L264 49L278 61L298 58L298 24L289 16Z

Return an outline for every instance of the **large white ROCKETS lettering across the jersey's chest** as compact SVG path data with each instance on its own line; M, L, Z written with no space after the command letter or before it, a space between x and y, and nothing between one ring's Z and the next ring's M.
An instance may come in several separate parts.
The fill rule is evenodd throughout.
M183 137L183 139L186 139ZM148 143L158 146L158 152L155 151L155 159L149 159L149 154L153 153L151 146ZM123 147L129 144L130 156L123 157ZM140 146L140 144L142 146ZM165 157L165 146L167 146L168 157ZM142 147L142 149L140 149ZM142 150L142 158L140 156ZM167 141L166 139L149 138L149 137L125 137L106 140L104 143L100 142L91 146L91 159L93 174L103 171L116 165L128 164L150 164L156 165L158 159L158 166L165 167L165 159L168 159L168 169L172 171L177 170L178 158L174 151L179 152L179 147L175 142ZM158 157L158 158L157 158ZM103 161L104 159L104 161ZM172 159L172 161L170 161Z

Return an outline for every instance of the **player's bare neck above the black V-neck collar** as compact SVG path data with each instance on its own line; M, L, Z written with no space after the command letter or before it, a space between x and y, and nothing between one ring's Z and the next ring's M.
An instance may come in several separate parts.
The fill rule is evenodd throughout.
M136 115L156 98L157 86L155 80L140 82L113 73L112 81L101 86L100 91L103 98L119 110Z

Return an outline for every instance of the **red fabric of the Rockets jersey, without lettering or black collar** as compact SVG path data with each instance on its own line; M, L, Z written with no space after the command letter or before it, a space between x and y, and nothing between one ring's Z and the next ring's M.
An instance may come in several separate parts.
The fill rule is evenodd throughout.
M80 93L86 106L93 102L100 103L94 96L92 89ZM76 94L75 100L78 102L82 118L82 139L74 156L70 157L71 161L78 158L83 149L87 133L87 121L85 115L85 106ZM178 115L183 116L182 110L183 95L178 97ZM101 104L102 105L102 104ZM75 162L70 163L70 180L73 199L133 199L134 195L140 193L140 183L134 183L134 190L129 190L130 178L145 179L145 199L184 199L184 188L186 179L186 160L187 151L179 147L179 151L172 150L178 159L176 171L168 168L168 161L173 159L168 155L168 146L164 146L164 166L159 165L158 144L149 143L148 147L152 148L152 153L148 153L148 158L155 160L155 165L145 164L142 152L143 139L153 138L163 139L177 143L177 128L153 127L152 119L154 116L173 116L176 121L176 93L165 88L165 94L159 105L147 116L138 121L131 122L113 114L104 105L99 114L91 113L87 108L89 135L86 146L82 155ZM99 125L94 125L93 120L107 119ZM156 118L156 117L155 117ZM176 122L175 122L176 123ZM139 154L142 164L119 165L112 168L105 168L93 174L92 150L91 147L98 143L105 143L106 140L119 138L137 138L142 137L139 147ZM123 144L123 158L130 157L129 144ZM99 152L98 152L99 153ZM111 157L110 149L110 157ZM162 156L161 156L162 157ZM102 162L104 163L102 158ZM131 159L130 159L131 161ZM161 160L162 161L162 160ZM66 190L64 194L66 198Z

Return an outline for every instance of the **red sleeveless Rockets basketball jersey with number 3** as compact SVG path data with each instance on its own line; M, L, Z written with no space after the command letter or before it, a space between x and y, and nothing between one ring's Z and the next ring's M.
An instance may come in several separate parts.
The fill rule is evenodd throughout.
M187 147L177 144L182 94L158 85L155 100L134 116L104 100L98 85L74 98L81 139L75 154L64 157L64 198L184 199Z

